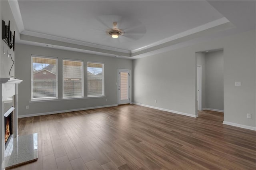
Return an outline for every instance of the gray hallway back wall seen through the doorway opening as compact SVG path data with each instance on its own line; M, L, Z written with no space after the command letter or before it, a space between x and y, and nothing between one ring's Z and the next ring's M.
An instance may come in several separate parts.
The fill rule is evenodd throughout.
M206 108L224 110L223 50L206 53Z

